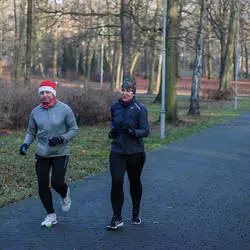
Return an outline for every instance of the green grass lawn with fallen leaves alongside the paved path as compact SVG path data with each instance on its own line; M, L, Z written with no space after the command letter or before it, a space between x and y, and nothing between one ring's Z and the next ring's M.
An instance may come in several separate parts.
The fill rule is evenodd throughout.
M232 101L201 102L201 116L187 116L188 99L178 98L178 116L176 124L166 125L166 136L159 138L160 104L152 103L153 97L139 97L148 109L151 133L145 138L146 150L161 147L224 120L239 116L250 110L250 98L239 98L239 108L233 110ZM158 122L157 122L158 121ZM108 167L110 140L107 137L109 123L95 127L80 127L78 137L71 144L70 164L67 181L72 182L85 176L94 175ZM27 156L19 155L25 131L0 131L0 207L10 202L37 195L35 175L35 144L28 150Z

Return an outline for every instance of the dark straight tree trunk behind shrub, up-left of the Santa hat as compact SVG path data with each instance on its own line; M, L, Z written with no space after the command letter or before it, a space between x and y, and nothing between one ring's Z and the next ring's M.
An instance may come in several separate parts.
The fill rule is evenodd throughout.
M26 37L25 74L24 74L25 84L30 83L30 77L31 77L32 7L33 7L33 1L28 0L27 37Z

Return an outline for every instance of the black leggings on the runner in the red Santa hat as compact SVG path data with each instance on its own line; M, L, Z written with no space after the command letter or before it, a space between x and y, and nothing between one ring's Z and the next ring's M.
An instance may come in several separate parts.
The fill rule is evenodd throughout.
M51 185L57 193L65 198L67 195L67 184L64 181L69 161L69 156L58 156L43 158L36 156L36 174L38 180L38 192L47 213L54 213L52 194L49 188L50 168L52 168Z

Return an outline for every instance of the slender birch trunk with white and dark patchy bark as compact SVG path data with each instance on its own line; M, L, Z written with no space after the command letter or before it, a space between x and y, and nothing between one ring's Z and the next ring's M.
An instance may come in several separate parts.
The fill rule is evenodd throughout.
M204 36L204 26L205 26L205 15L206 15L205 0L201 1L201 10L200 10L200 24L199 30L196 38L196 59L195 66L193 70L192 77L192 88L190 96L190 105L189 105L189 115L200 115L200 77L202 74L202 51L203 51L203 36Z

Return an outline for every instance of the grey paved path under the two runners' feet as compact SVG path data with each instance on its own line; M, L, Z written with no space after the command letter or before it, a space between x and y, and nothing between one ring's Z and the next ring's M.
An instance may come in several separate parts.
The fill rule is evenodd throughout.
M143 224L131 225L125 183L123 229L110 220L110 175L71 184L73 207L40 228L33 197L0 209L0 249L250 249L250 113L150 151L143 172Z

